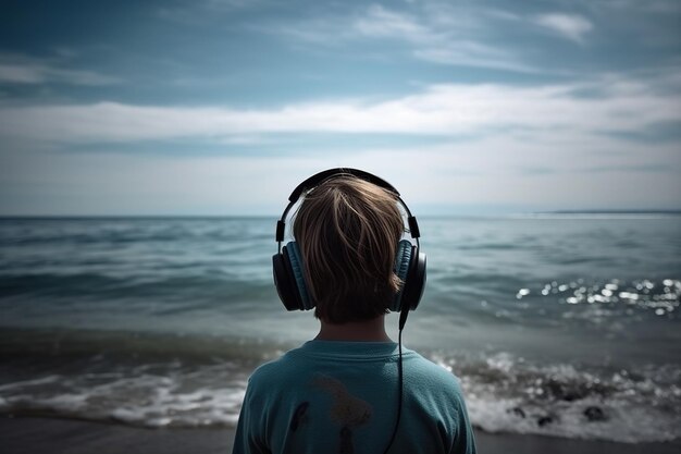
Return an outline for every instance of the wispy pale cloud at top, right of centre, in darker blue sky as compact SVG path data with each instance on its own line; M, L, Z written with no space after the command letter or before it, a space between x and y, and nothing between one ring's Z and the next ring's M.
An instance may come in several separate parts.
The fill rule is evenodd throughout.
M371 5L360 13L317 16L261 28L298 42L338 48L360 40L391 41L391 51L403 51L430 63L505 70L520 73L546 72L522 62L498 44L488 41L491 22L517 21L510 13L482 10L476 13L428 3L425 11L403 12ZM356 49L356 48L355 48Z

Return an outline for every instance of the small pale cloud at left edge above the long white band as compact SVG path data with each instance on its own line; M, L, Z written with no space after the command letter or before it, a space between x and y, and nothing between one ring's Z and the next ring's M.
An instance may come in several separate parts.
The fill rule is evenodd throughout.
M54 59L35 59L26 56L0 56L0 83L38 85L59 83L69 85L111 85L116 77L92 71L62 68Z

